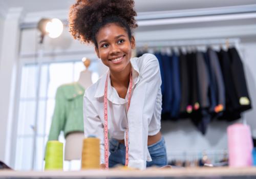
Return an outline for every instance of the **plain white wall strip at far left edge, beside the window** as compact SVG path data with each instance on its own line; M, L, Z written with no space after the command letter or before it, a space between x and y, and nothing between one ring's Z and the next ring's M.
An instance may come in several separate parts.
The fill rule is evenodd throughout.
M22 8L9 9L3 26L0 49L0 160L9 164L14 115L19 23ZM8 148L9 147L9 148Z

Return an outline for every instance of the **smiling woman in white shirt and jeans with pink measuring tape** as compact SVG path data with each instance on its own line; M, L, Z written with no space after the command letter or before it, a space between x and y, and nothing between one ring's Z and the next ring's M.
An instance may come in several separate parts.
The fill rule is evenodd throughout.
M78 0L70 11L73 37L92 42L109 67L84 94L84 133L100 138L102 168L167 164L159 63L152 54L132 58L131 29L138 26L133 8L130 0Z

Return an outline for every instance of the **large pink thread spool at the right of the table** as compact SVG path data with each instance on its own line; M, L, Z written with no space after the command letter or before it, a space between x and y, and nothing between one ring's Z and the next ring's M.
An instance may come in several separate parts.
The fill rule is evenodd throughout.
M228 155L230 167L252 165L252 138L248 125L233 124L227 128Z

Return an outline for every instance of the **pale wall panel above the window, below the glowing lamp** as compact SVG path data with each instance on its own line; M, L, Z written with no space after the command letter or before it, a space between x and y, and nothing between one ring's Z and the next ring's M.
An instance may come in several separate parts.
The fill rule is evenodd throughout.
M66 27L63 33L55 39L45 36L44 42L38 44L40 32L37 29L26 29L22 31L22 42L20 43L20 61L35 61L35 54L42 52L41 60L65 61L81 60L88 57L97 60L94 47L82 44L74 40Z

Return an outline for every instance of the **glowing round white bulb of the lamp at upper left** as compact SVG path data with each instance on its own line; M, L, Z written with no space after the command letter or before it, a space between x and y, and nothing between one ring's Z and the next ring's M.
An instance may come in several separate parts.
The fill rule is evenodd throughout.
M46 24L46 32L49 33L49 37L51 38L57 38L58 36L61 35L62 31L63 31L63 24L57 18L53 18L51 21L49 21Z

